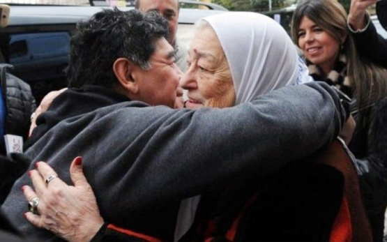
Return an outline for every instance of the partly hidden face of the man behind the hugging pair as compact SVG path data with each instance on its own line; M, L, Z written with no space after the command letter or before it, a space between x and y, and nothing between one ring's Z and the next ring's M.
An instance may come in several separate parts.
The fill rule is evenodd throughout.
M176 31L179 20L179 3L177 0L141 0L139 9L144 12L156 11L168 21L169 44L175 45Z

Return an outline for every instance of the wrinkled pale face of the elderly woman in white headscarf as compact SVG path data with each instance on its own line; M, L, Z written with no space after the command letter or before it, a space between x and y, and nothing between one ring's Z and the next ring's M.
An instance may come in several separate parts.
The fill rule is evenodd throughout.
M232 107L235 90L225 52L213 29L195 33L188 52L188 70L180 85L188 90L185 107Z

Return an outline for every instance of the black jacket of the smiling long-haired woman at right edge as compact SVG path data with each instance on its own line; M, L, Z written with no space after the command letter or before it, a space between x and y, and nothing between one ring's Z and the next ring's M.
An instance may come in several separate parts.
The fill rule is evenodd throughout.
M369 124L357 126L349 148L356 156L367 213L384 213L387 206L387 98L372 106Z

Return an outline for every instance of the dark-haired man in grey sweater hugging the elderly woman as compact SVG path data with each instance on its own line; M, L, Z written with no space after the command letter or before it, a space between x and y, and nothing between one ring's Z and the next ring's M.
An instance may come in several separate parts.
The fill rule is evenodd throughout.
M61 93L38 117L34 142L24 154L33 160L31 171L15 182L1 206L26 236L66 238L23 216L22 190L31 189L24 186L32 185L29 176L40 176L34 170L39 160L60 177L34 184L47 189L59 181L71 183L69 160L82 156L105 220L133 229L137 239L150 234L171 241L181 199L232 184L236 174L250 179L280 169L331 142L344 123L340 98L315 82L232 108L172 109L181 72L164 18L103 10L78 29L68 68L70 86L77 88ZM275 142L268 142L273 137ZM30 211L44 207L40 195L29 198ZM88 233L76 241L90 240L103 225L103 220L77 220L82 227L70 231Z

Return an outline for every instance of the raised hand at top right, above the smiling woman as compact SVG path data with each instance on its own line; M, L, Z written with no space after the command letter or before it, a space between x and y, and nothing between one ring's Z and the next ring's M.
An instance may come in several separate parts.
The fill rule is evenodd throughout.
M351 8L349 8L348 23L354 30L364 29L365 10L372 4L377 3L377 0L352 0Z

